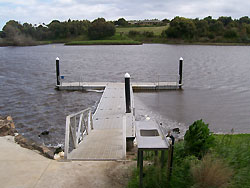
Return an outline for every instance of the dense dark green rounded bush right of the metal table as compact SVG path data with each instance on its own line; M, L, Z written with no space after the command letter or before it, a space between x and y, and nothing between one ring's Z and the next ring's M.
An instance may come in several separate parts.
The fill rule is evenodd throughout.
M202 119L189 126L184 136L184 150L188 155L201 158L214 145L214 136Z

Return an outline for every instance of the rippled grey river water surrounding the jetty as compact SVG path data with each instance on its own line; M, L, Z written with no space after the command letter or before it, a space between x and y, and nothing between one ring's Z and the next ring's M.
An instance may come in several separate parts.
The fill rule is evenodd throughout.
M20 133L46 145L63 144L65 117L94 110L98 92L54 89L55 58L66 81L157 81L177 74L184 58L182 90L135 93L139 116L183 130L203 119L216 133L250 133L250 47L144 44L0 48L0 114ZM164 79L164 76L163 78ZM49 130L47 136L38 137Z

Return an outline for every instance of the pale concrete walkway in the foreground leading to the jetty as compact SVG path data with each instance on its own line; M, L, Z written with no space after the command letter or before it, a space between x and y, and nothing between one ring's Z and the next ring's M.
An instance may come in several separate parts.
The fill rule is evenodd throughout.
M12 136L0 137L1 188L119 188L126 184L122 176L128 176L128 166L114 161L58 162L20 147Z

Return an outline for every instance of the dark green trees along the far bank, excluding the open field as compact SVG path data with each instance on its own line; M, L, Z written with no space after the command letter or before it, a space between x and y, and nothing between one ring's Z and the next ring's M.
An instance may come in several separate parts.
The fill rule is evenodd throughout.
M161 36L157 36L160 41L250 42L250 18L248 16L239 19L225 16L218 19L211 16L204 19L189 19L177 16L171 21L164 19L157 26L161 25L169 25L169 27L162 32ZM15 20L10 20L0 31L0 44L32 45L36 41L70 40L79 36L85 36L85 40L96 40L113 36L116 27L135 26L138 25L131 25L124 18L116 21L98 18L92 22L70 19L63 22L53 20L47 25L39 24L38 26L29 23L20 24ZM155 24L151 26L155 26ZM136 38L137 35L140 33L131 31L128 37ZM156 38L156 36L153 32L144 32L140 39L143 41L144 38Z

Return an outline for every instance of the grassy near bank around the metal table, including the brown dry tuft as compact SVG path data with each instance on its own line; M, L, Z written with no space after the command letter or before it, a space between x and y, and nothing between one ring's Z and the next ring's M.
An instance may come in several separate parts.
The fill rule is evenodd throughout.
M165 155L167 156L167 155ZM153 163L153 153L147 152L145 160ZM160 156L157 159L160 161ZM167 161L167 159L165 159ZM173 174L166 179L166 168L144 165L144 187L194 188L194 187L250 187L250 134L215 135L215 145L202 160L185 155L184 142L175 144ZM128 187L138 187L135 169Z

